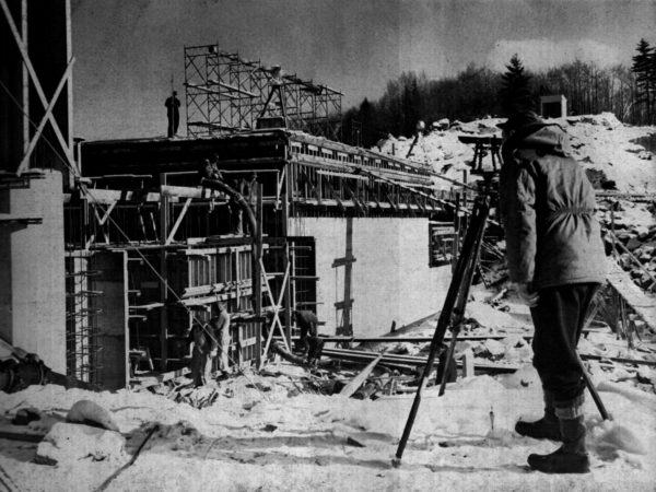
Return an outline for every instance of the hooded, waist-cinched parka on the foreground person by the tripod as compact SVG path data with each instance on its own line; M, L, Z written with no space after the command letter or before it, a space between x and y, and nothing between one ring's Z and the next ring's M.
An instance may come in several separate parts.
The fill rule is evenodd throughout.
M502 148L500 212L511 281L532 290L604 282L595 192L564 150L565 132L548 125L526 133Z

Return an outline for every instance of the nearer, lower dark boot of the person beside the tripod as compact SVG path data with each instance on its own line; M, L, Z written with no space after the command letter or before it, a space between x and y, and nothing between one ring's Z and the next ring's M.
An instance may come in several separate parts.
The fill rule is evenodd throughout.
M559 422L563 445L549 455L529 455L528 465L544 473L587 473L590 461L585 448L583 415L574 419L559 415Z

